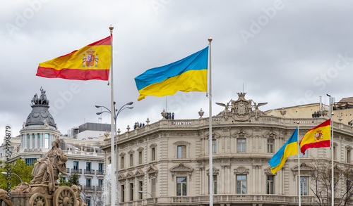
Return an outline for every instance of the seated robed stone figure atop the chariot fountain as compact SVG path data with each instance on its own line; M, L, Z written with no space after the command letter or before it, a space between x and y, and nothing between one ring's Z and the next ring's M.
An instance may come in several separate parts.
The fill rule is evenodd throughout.
M50 149L44 157L35 163L32 170L34 178L30 184L49 184L49 192L54 191L56 180L59 172L66 174L67 157L63 150L59 148L59 139L52 141L52 149Z

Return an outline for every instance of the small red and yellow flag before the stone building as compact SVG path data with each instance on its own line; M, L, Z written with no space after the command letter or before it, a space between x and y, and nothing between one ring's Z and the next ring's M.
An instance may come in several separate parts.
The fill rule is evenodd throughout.
M330 131L331 131L331 119L318 124L318 126L310 129L301 139L300 152L305 154L308 148L327 148L330 147Z

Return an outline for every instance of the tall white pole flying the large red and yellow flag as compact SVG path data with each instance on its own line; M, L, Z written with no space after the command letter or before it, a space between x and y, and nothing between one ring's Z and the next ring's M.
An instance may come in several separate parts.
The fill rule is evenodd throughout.
M109 27L110 30L110 56L111 56L111 60L110 60L110 151L111 151L111 161L112 161L112 167L111 167L111 174L110 174L110 178L111 178L111 185L112 185L112 197L111 197L111 206L115 206L115 189L116 189L116 184L115 184L115 153L114 153L114 84L113 84L113 30L114 27L112 25L110 25Z

